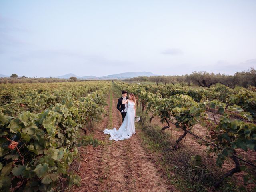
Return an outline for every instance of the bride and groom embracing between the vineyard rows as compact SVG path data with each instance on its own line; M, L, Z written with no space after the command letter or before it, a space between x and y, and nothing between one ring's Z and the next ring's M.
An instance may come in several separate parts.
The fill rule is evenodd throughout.
M110 134L109 140L124 140L135 134L134 118L136 117L136 99L133 93L127 97L127 91L122 91L122 97L118 99L117 109L121 112L123 122L118 130L105 129L104 134Z

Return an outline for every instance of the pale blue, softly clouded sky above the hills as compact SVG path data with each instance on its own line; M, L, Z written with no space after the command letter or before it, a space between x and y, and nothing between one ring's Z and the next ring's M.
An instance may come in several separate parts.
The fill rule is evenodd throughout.
M256 68L256 0L0 0L0 74Z

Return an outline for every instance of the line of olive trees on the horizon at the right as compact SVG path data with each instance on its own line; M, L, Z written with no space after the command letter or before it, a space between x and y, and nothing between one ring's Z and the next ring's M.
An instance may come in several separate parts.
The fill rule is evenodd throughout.
M256 70L251 67L247 71L236 72L234 75L225 75L225 74L214 74L203 72L192 72L192 74L186 74L182 76L150 76L150 77L134 77L126 79L125 81L151 81L158 84L180 84L182 87L191 83L196 84L201 87L210 88L211 85L216 83L221 83L230 88L235 88L235 86L256 86Z

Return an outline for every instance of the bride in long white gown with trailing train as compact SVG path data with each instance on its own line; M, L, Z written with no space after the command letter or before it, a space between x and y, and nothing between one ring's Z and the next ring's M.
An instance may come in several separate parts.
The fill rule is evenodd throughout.
M124 140L130 138L132 134L135 134L134 117L136 116L136 99L133 93L130 93L129 98L126 100L123 96L122 104L125 103L127 103L127 113L120 128L118 130L113 128L103 131L104 134L110 134L109 140Z

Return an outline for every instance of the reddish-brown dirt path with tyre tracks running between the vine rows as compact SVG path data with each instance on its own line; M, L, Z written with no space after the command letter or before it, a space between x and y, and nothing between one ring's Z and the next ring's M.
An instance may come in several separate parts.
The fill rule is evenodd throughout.
M112 101L113 126L119 128L122 116L116 109L117 98ZM108 106L106 107L108 110ZM146 154L138 131L128 140L110 141L103 134L108 126L109 117L100 122L94 138L104 140L105 144L92 148L80 149L82 159L78 175L81 186L73 187L73 192L166 192L177 191L167 186L151 162L150 154Z

